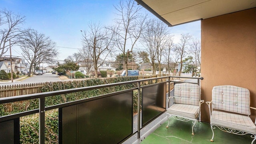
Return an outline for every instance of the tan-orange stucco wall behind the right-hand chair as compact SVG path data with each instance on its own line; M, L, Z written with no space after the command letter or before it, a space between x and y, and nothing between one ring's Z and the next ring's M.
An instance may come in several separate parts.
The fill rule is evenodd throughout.
M249 89L256 107L256 8L202 20L201 28L202 99L211 101L216 85L236 85ZM210 121L206 104L202 121Z

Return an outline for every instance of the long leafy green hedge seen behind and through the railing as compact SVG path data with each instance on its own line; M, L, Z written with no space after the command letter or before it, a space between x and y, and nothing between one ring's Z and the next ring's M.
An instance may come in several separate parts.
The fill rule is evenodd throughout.
M151 77L148 77L148 78L151 78ZM30 93L58 91L58 90L73 89L78 87L88 87L88 86L94 86L94 85L133 81L138 79L139 77L135 76L135 77L111 77L111 78L104 78L104 79L94 78L94 79L86 79L82 81L58 81L58 82L50 82L50 83L47 82L47 83L41 83L37 85L38 88L31 90ZM146 81L145 83L142 83L142 85L148 85L152 83L157 83L157 81ZM31 87L36 87L36 85L31 85ZM56 95L55 97L46 98L45 104L47 107L51 105L57 105L60 103L76 101L79 99L85 99L89 97L116 92L116 91L122 91L125 89L131 89L134 87L137 87L137 84L118 85L114 87L94 89L86 92ZM173 86L171 86L171 88L172 87ZM11 89L14 89L14 88L15 86L11 87ZM20 89L20 88L24 89L24 86L16 85L16 89ZM0 91L4 89L0 89ZM7 89L10 89L10 87L6 87L5 90L7 91ZM18 94L15 92L12 92L12 93L13 93L12 95L8 95L8 96L14 96L14 94ZM25 92L23 92L22 94L24 95L24 93ZM19 94L21 94L21 92L19 92ZM135 114L138 108L138 105L137 105L138 91L137 90L134 91L133 97L134 97L133 109ZM8 105L10 105L11 110L8 109L6 105L0 105L0 116L37 109L38 102L39 102L38 99L34 99L29 101L9 103ZM46 118L45 119L46 120L45 143L46 144L58 143L58 110L49 110L48 112L46 112L45 118ZM20 143L34 144L39 142L38 141L39 126L34 125L34 124L38 124L38 119L39 119L38 114L32 114L32 115L24 116L20 118Z

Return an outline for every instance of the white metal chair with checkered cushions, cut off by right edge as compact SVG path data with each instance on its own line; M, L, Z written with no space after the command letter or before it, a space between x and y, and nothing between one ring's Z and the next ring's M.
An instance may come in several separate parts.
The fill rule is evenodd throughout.
M216 127L232 134L252 134L251 138L254 138L252 143L255 141L256 123L253 123L249 117L251 111L248 89L232 85L215 86L212 89L212 101L206 103L210 111L212 129L212 139L210 141L213 142L213 130ZM210 104L212 104L212 109Z

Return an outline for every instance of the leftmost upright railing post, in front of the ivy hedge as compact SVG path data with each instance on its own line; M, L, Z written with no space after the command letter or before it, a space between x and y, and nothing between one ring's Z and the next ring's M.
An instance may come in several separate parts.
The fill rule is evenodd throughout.
M44 144L45 98L39 99L39 144Z

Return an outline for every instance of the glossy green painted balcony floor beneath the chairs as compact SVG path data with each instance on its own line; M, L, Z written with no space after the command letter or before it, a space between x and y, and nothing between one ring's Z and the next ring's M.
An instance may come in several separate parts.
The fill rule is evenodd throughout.
M250 134L236 135L223 132L216 128L214 130L214 142L210 124L197 122L192 135L192 121L182 122L170 118L169 128L166 128L168 121L142 140L141 144L251 144L253 138ZM256 144L256 142L254 142Z

